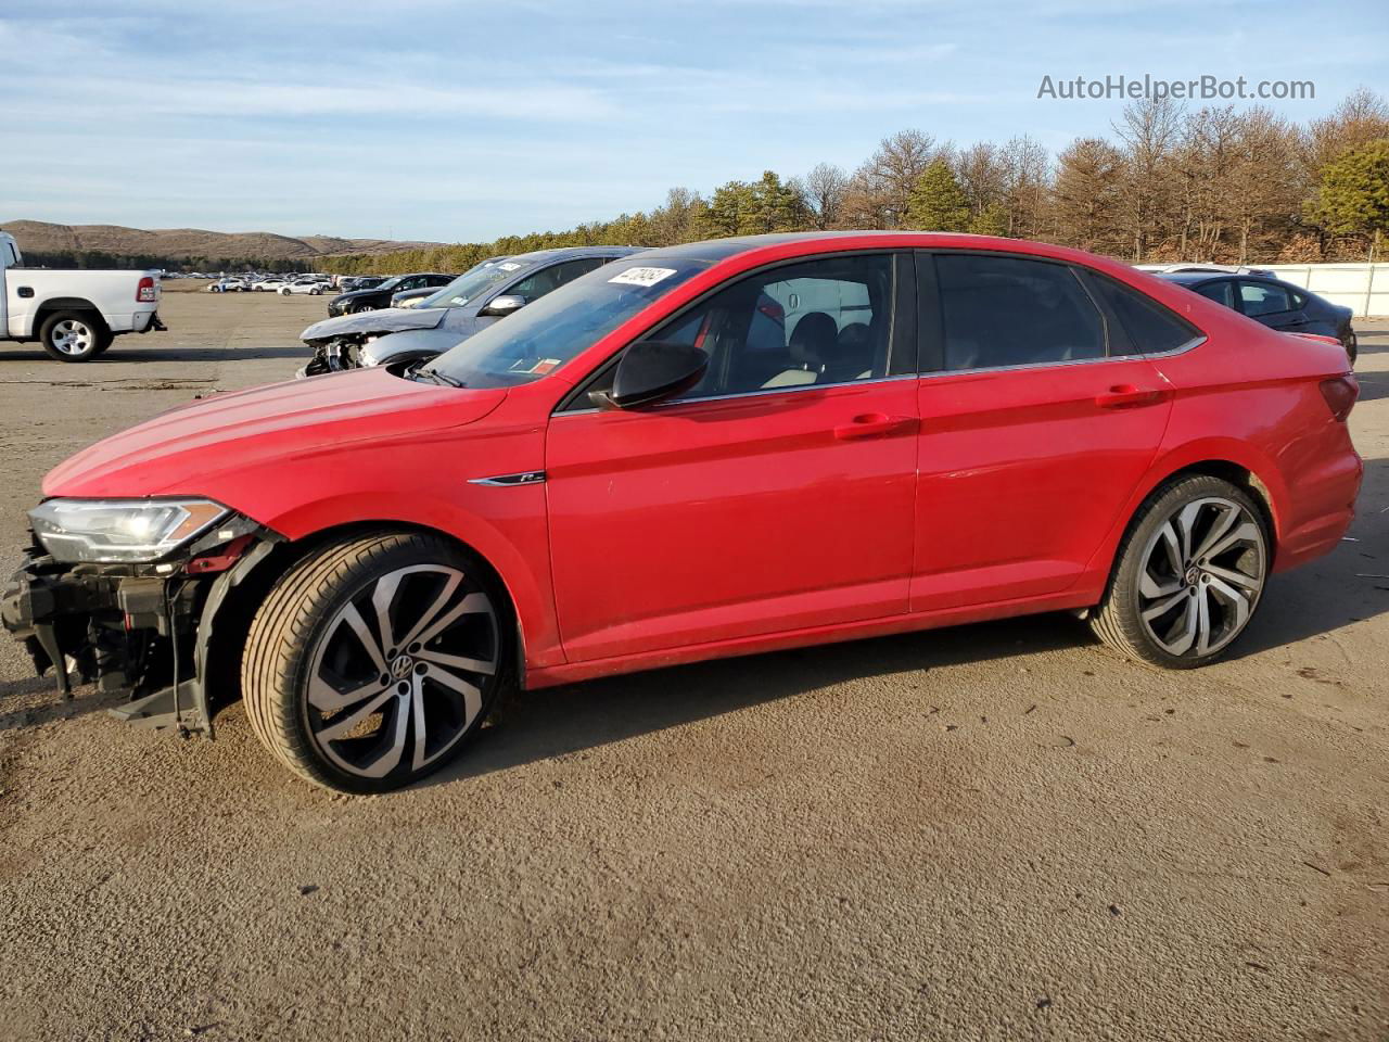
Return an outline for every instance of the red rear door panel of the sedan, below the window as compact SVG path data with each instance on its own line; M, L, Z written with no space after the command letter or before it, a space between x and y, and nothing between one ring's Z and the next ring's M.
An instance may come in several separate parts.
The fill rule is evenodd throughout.
M1122 388L1150 402L1104 406ZM1157 456L1171 389L1143 358L920 381L911 610L1057 593Z

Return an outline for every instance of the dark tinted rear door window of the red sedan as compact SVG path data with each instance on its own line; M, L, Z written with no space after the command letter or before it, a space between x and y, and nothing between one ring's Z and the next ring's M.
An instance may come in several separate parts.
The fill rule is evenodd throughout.
M1104 320L1064 264L936 256L946 370L1104 357Z

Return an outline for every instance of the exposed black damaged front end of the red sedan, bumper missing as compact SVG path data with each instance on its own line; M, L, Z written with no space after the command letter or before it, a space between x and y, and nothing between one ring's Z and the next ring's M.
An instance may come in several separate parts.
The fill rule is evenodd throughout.
M224 508L174 549L133 560L149 547L75 550L81 536L51 522L43 531L40 510L31 513L25 563L0 596L0 621L38 674L51 668L64 697L72 697L74 677L101 692L128 692L113 716L211 738L208 660L218 614L282 538ZM126 560L75 560L101 556Z

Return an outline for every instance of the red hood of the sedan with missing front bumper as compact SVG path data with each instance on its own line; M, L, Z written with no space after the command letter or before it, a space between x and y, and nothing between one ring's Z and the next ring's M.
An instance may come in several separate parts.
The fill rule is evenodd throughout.
M219 497L229 475L340 453L353 442L415 439L488 415L506 390L444 388L379 368L213 395L113 435L53 468L44 496Z

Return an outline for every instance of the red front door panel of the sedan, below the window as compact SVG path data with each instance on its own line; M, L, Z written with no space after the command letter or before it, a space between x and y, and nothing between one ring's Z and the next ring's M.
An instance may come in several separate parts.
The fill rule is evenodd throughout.
M546 474L569 659L904 613L914 383L556 417ZM904 422L835 436L867 414Z

